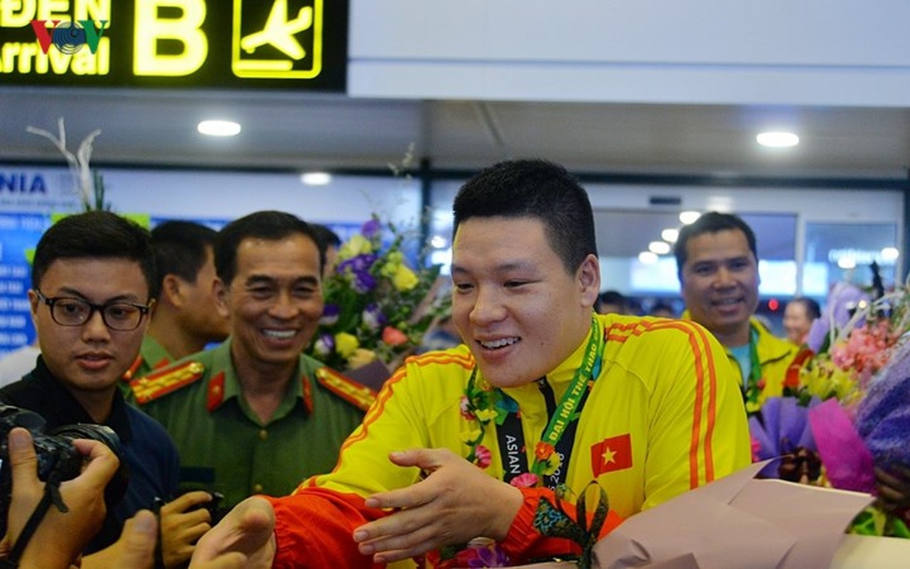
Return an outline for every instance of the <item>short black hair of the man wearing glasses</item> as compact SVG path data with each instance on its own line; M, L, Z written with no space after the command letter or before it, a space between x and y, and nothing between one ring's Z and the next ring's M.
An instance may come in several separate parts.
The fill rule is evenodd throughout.
M38 289L56 259L127 259L136 261L146 278L148 298L156 299L160 283L148 230L110 211L86 211L60 219L35 248L32 288Z

